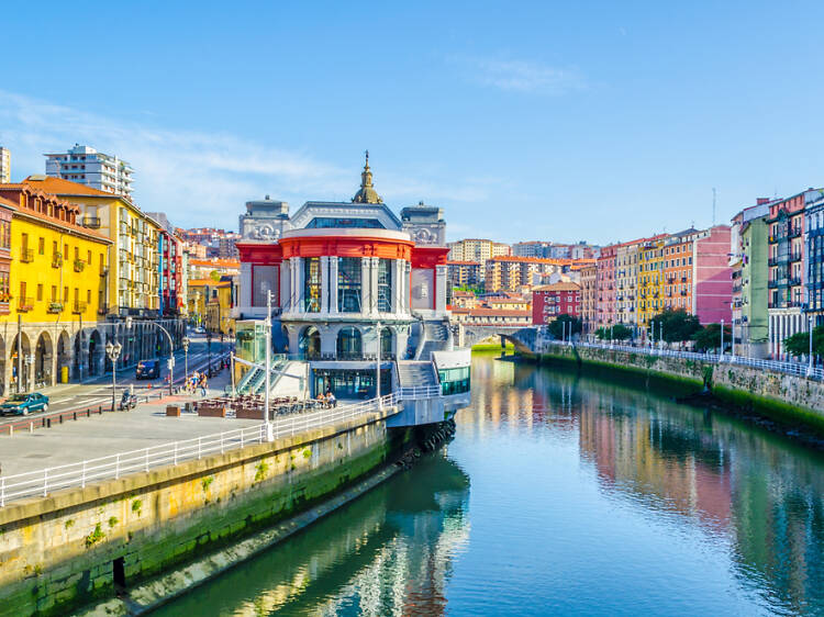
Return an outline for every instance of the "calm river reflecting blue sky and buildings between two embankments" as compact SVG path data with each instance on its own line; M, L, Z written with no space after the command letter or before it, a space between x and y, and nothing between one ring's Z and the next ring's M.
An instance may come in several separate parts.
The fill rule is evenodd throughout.
M824 453L477 355L455 440L159 615L824 615Z

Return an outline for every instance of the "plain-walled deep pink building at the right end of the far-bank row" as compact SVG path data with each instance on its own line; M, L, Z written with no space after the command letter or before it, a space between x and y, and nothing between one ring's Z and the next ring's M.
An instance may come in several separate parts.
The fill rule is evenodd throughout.
M693 313L701 324L733 318L733 269L730 266L728 225L716 225L695 234L692 263Z

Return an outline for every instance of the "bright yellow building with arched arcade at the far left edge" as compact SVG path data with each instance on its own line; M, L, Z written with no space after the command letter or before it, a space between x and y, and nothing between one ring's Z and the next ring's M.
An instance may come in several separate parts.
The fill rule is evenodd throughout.
M80 209L27 182L0 184L0 375L2 393L68 381L102 356L77 336L96 326L105 306L111 240L79 224ZM4 302L3 302L4 301ZM104 312L104 311L103 311ZM91 356L89 356L91 352Z

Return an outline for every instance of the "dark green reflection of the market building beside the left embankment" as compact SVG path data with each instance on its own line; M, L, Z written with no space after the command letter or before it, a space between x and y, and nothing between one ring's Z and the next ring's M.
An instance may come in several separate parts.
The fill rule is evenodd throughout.
M162 615L439 615L468 541L469 479L445 452L424 457Z

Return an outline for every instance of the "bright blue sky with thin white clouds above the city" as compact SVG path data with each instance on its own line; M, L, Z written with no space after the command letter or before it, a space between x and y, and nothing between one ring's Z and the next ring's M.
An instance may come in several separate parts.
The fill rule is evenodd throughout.
M85 143L135 198L235 228L348 200L465 236L595 243L824 184L816 2L3 2L13 178ZM8 55L8 52L11 55Z

